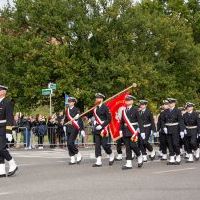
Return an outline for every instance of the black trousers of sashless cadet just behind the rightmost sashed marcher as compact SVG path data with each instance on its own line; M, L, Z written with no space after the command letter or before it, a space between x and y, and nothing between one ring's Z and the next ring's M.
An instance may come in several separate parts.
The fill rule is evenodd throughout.
M144 140L141 138L141 136L139 136L139 147L140 150L142 151L142 155L147 155L146 149L150 152L153 151L153 147L149 143L149 137L151 135L151 127L144 128L144 132L145 132Z

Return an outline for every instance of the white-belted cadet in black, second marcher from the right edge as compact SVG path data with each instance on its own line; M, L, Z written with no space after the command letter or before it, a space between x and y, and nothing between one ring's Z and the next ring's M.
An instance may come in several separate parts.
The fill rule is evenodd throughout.
M168 165L179 165L181 162L180 156L180 136L184 138L184 123L181 111L176 108L177 100L168 98L169 109L166 109L162 118L162 129L167 135L167 143L169 148L170 160ZM175 158L176 155L176 158Z

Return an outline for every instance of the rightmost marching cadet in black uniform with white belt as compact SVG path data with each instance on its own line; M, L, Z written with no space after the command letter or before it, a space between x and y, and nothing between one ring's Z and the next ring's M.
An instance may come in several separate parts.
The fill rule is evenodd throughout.
M183 114L183 120L185 124L185 145L189 158L187 162L194 162L192 150L194 150L194 156L199 159L199 148L197 147L197 137L200 133L200 118L197 112L194 111L194 104L186 103L186 113Z

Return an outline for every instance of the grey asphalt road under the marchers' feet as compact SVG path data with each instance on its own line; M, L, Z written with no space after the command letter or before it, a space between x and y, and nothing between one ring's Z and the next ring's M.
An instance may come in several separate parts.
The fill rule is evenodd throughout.
M69 166L67 152L12 151L19 164L15 177L0 179L0 199L4 200L196 200L200 192L200 161L167 166L155 160L122 171L123 162L92 168L91 150L83 150L80 165Z

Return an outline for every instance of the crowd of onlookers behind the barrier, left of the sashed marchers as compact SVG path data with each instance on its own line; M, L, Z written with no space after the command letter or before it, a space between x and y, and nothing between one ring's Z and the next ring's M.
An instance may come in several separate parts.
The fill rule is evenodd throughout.
M16 113L14 116L13 144L19 148L24 145L26 149L43 149L44 143L50 148L65 145L64 114L60 112L51 117L44 115L25 116Z

